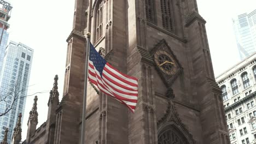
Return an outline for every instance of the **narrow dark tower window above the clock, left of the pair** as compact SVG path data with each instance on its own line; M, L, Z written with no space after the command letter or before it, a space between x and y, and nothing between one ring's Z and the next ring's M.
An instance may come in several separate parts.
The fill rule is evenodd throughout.
M147 20L152 23L156 23L155 17L155 1L154 0L146 0L146 16Z

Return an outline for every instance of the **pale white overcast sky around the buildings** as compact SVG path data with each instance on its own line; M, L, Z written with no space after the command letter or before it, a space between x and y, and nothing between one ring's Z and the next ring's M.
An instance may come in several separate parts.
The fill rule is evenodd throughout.
M66 39L72 31L74 0L8 0L13 5L9 40L34 49L28 94L50 91L59 75L62 97L66 63ZM197 0L206 30L215 76L240 61L232 29L232 17L256 9L255 0ZM38 125L46 121L49 93L38 95ZM60 98L61 99L61 98ZM33 97L28 97L23 115L22 140L26 139L28 113Z

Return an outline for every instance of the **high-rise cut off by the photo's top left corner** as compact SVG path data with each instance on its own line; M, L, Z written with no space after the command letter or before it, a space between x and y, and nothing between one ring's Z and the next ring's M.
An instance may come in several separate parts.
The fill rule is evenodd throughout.
M0 0L0 74L3 65L4 52L7 45L9 34L7 29L9 28L8 20L10 19L11 7L10 3Z

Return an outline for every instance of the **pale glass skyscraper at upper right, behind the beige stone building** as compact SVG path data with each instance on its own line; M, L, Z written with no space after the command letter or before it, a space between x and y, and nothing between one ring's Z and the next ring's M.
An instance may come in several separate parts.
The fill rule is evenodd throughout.
M238 15L232 21L238 52L242 60L256 51L256 9L249 14Z

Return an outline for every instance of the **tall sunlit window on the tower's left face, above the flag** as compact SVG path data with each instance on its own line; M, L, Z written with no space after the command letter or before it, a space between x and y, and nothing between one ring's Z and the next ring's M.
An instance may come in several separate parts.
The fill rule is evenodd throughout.
M102 37L102 25L103 25L103 3L102 1L98 2L95 9L95 34L94 34L94 43L97 43L98 40Z

